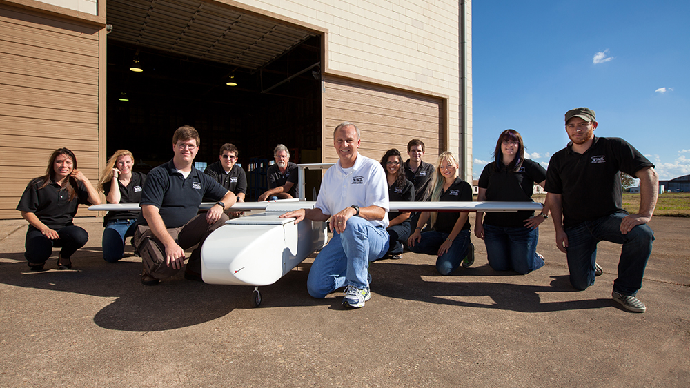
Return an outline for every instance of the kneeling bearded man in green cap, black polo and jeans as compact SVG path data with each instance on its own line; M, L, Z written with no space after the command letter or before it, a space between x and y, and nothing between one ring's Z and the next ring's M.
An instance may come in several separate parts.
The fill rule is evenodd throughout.
M546 187L556 231L556 245L567 254L570 282L578 290L603 273L597 264L597 243L622 244L613 300L632 312L646 307L635 297L651 254L651 219L659 190L654 165L635 147L616 137L597 137L596 114L575 108L565 114L570 142L553 154ZM620 172L640 179L640 210L622 208ZM548 201L547 201L548 203Z

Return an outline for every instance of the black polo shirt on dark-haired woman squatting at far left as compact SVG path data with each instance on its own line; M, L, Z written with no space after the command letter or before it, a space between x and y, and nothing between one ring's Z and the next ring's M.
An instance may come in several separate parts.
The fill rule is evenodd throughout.
M72 218L77 214L77 207L79 203L90 205L88 201L88 191L83 183L77 183L75 191L77 198L70 201L70 194L66 189L63 189L55 181L50 181L46 187L39 188L43 185L43 178L35 178L26 186L17 210L20 212L30 212L36 214L39 221L44 223L50 229L61 229L63 227L73 225ZM29 225L29 227L33 227Z

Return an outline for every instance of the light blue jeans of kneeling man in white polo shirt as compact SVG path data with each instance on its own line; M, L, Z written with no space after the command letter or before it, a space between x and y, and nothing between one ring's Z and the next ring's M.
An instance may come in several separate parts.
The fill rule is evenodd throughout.
M319 252L309 270L306 286L314 298L326 295L344 285L369 287L369 262L388 252L388 232L361 217L348 219L342 234L333 238Z

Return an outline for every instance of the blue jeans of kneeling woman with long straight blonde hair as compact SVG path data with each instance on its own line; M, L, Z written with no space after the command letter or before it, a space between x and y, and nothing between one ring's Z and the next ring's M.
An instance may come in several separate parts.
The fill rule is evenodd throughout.
M444 232L436 232L435 230L430 230L428 232L422 232L422 239L415 243L414 247L410 247L412 252L416 254L431 254L437 255L438 249L446 241L450 234ZM448 252L438 256L436 259L436 270L439 274L450 275L460 267L462 259L467 256L467 248L470 245L470 231L461 230L459 234L453 240Z

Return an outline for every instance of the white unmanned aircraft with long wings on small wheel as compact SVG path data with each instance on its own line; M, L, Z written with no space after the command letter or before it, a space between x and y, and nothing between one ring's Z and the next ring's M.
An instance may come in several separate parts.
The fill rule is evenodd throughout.
M304 201L304 169L332 164L299 165L301 200L235 203L229 210L262 212L233 218L211 233L201 246L201 278L204 283L250 285L252 303L261 304L259 286L271 285L328 243L325 222L279 218L298 209L313 209L315 201ZM213 206L202 203L200 209ZM391 212L517 212L542 210L538 202L391 202ZM89 210L139 209L138 203L94 205Z

